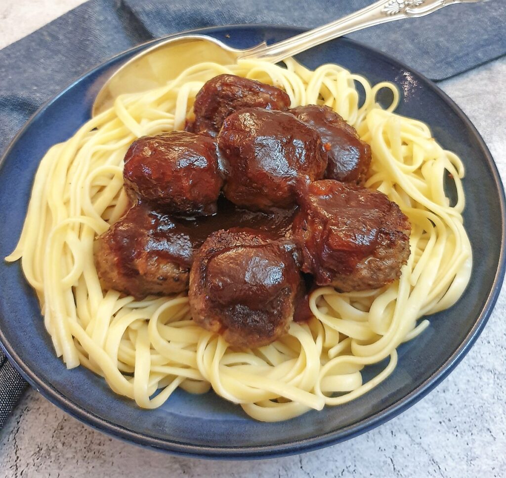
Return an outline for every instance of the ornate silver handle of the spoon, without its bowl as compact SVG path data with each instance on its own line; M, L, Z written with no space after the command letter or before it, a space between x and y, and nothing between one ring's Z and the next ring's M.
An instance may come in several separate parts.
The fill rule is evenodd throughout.
M393 22L402 18L423 17L447 5L476 3L482 0L379 0L339 20L321 27L265 45L254 51L244 52L239 59L266 60L277 63L285 58L309 50L313 46L346 35L362 28L381 23Z

